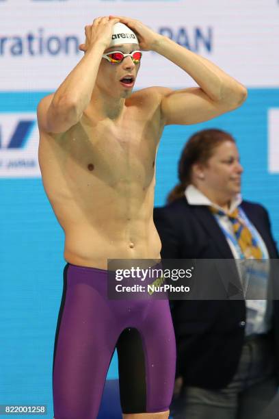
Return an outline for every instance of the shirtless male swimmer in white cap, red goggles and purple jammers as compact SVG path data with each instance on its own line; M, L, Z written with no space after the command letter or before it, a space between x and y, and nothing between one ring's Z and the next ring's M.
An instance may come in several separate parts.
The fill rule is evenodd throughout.
M83 58L38 105L42 180L65 231L67 262L53 355L55 419L96 418L115 348L123 417L168 418L176 357L168 301L107 299L107 259L160 258L152 210L163 127L234 110L247 93L135 19L96 18L80 49ZM142 51L151 50L198 87L132 93Z

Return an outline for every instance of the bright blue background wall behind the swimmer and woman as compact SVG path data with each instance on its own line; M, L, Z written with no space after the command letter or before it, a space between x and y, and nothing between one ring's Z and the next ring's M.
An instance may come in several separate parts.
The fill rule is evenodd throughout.
M0 93L0 114L35 112L47 93ZM204 127L225 129L237 139L245 169L243 196L267 207L278 241L279 173L267 171L269 107L279 108L279 89L251 89L235 112L190 127L166 127L157 157L155 205L164 204L176 183L185 140ZM52 418L51 369L64 237L40 179L0 179L0 196L0 404L47 404L49 414L44 417ZM116 378L114 357L108 379Z

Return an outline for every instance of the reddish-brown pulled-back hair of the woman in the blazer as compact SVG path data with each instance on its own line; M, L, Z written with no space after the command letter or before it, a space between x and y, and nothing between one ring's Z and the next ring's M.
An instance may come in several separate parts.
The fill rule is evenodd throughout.
M189 138L178 162L180 183L168 194L168 203L184 196L185 188L191 183L192 166L196 163L207 164L214 149L225 141L235 142L235 139L221 129L202 129Z

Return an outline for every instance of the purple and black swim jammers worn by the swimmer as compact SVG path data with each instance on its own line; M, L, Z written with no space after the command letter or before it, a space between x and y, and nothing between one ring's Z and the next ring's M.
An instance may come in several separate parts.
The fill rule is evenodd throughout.
M109 300L107 270L66 264L53 353L55 419L97 417L115 348L123 413L167 411L176 359L168 300Z

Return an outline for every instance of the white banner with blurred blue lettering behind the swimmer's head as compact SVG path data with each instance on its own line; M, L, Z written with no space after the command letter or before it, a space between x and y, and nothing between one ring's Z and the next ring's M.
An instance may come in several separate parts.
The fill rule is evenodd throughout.
M81 60L84 27L129 15L212 60L247 87L279 86L276 0L0 0L0 90L55 90ZM156 53L144 53L136 88L192 86Z

